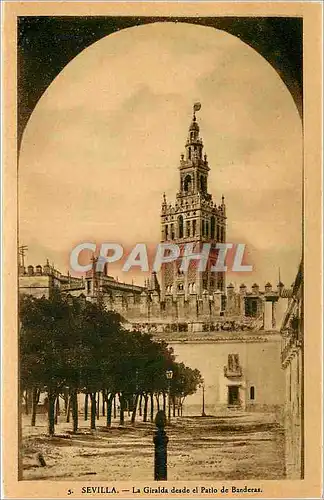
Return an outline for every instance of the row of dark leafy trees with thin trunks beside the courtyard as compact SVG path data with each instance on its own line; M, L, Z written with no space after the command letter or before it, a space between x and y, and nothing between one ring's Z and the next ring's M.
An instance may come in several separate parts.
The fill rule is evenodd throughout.
M176 363L173 350L151 335L126 330L119 314L102 304L64 298L24 295L20 299L20 384L22 391L47 392L49 433L54 433L55 400L70 398L73 429L78 428L77 394L90 395L91 428L95 427L96 394L107 405L111 423L112 402L120 402L120 422L126 406L135 421L139 399L144 398L144 420L148 397L164 396L169 385L166 371L173 371L172 396L183 401L201 382L200 372ZM88 399L87 399L88 400ZM33 416L35 420L35 415Z

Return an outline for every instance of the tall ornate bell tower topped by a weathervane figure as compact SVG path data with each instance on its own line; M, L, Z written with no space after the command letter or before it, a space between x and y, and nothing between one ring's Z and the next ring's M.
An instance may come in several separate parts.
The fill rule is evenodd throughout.
M226 207L224 197L217 205L208 193L210 168L196 118L200 108L200 103L194 104L185 154L180 158L180 185L175 203L168 203L163 195L161 241L178 244L181 252L186 243L192 243L195 253L201 251L204 243L210 243L210 258L205 271L199 271L197 260L190 262L186 273L180 270L181 259L164 264L161 271L162 300L166 295L176 297L184 294L187 299L190 294L201 297L206 292L225 291L224 273L212 271L211 267L217 259L216 243L225 242Z

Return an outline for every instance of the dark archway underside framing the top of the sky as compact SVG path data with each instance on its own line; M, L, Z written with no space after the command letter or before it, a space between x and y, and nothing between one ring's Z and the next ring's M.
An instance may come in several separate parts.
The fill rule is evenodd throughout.
M40 97L80 52L126 28L179 21L223 30L252 47L280 76L303 116L302 17L20 16L17 21L18 147Z

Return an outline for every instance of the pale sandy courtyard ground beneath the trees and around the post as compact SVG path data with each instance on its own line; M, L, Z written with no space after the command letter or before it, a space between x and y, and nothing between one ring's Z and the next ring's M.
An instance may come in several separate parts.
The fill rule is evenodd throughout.
M114 422L89 430L80 416L80 430L71 423L56 426L46 436L47 421L37 415L36 427L23 416L22 476L36 480L148 481L153 479L154 424ZM228 413L218 417L177 417L166 428L169 437L168 479L281 479L284 478L284 437L271 414ZM46 467L37 461L41 452Z

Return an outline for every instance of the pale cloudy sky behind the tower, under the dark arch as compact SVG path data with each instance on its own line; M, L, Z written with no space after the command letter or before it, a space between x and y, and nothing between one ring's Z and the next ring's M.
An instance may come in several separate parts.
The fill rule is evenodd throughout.
M58 75L26 127L19 165L20 244L28 264L62 272L82 241L130 248L160 239L163 192L174 201L192 104L227 205L227 241L254 272L281 279L301 257L301 120L288 89L252 48L223 31L154 23L99 40ZM142 284L114 266L109 274Z

